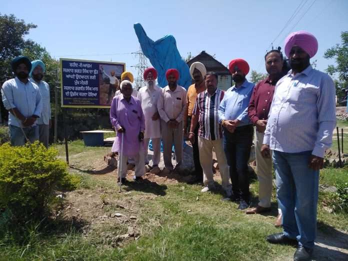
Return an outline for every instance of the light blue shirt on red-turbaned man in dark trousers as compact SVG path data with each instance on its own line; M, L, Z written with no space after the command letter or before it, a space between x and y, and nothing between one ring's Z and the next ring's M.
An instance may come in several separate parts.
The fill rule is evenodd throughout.
M226 90L218 108L219 122L223 119L240 120L238 126L251 124L247 115L252 90L255 84L245 81L236 88L235 85Z

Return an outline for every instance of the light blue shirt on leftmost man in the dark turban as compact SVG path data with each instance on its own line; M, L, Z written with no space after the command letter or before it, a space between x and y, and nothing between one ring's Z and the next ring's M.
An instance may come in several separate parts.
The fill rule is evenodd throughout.
M33 114L41 115L40 91L38 86L30 80L27 83L21 82L17 77L6 80L2 84L1 95L3 105L7 110L17 108L24 117L30 117ZM20 127L21 121L8 112L8 124ZM36 121L33 125L36 125Z

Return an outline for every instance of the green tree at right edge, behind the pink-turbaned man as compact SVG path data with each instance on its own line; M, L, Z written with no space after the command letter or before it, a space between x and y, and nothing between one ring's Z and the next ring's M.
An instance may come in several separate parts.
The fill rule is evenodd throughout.
M336 65L328 65L326 71L330 75L338 74L334 80L338 100L344 100L345 89L348 88L348 31L341 32L341 39L341 44L328 48L324 54L326 59L335 59Z

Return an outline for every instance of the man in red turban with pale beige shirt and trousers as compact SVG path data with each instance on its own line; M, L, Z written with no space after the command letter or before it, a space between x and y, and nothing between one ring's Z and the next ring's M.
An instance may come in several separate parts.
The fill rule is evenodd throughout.
M173 170L171 163L171 147L174 143L176 166L180 171L183 150L183 114L186 109L186 90L177 85L179 72L177 69L168 69L165 73L168 85L165 86L159 96L157 108L161 118L163 141L163 172L168 174Z

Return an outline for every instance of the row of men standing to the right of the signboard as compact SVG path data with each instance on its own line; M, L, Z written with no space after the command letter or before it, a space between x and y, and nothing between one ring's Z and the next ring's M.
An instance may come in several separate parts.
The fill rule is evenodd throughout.
M183 135L188 133L195 166L192 181L203 182L202 192L214 189L214 150L225 191L223 200L237 201L238 209L246 209L250 203L248 159L254 135L259 202L246 213L270 210L273 164L279 206L277 223L281 222L283 231L266 240L297 245L294 260L309 260L316 233L319 169L325 149L332 143L336 122L334 83L326 73L310 65L317 48L311 33L289 34L284 51L291 69L283 72L279 48L268 51L264 56L268 76L255 86L245 78L248 63L233 59L228 69L235 84L226 91L217 88L217 74L206 72L200 62L190 66L194 83L187 93L177 84L179 72L174 68L166 71L168 85L162 89L155 84L156 70L146 69L146 85L139 89L137 97L131 96L131 82L123 80L122 95L113 98L110 109L111 123L117 130L112 150L120 152L122 148L122 166L127 157L135 159L135 176L139 180L145 163L150 171L159 171L162 139L162 173L167 174L180 169ZM150 138L152 168L147 159ZM125 169L118 171L118 176L124 178Z

